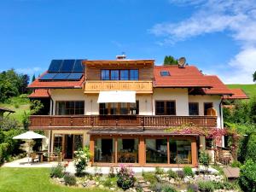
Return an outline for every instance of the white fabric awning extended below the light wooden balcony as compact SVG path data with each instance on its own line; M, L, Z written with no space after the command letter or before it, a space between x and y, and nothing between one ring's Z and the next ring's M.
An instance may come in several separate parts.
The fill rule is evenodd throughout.
M136 102L136 91L100 91L98 103L102 102Z

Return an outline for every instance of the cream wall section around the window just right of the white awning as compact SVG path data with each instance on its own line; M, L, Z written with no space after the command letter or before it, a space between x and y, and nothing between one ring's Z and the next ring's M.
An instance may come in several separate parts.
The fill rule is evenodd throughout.
M173 100L176 101L176 115L189 115L189 96L188 89L172 89L172 88L154 88L153 94L153 113L155 114L155 101Z

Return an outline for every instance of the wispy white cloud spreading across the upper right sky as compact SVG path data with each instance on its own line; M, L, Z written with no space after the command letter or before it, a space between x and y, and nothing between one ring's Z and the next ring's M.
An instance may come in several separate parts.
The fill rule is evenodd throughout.
M241 51L218 71L225 83L253 83L256 66L256 1L255 0L170 0L182 6L193 6L195 13L177 23L159 23L150 32L163 36L158 44L175 44L212 32L231 32Z

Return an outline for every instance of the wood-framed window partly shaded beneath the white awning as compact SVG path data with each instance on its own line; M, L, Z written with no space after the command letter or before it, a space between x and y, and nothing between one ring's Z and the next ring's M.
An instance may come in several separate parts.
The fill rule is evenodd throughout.
M100 103L99 113L101 115L107 114L139 114L139 102L111 102Z

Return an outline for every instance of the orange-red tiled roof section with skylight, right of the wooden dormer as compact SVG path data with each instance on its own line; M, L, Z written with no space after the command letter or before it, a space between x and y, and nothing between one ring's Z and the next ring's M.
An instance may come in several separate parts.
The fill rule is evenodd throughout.
M170 76L161 76L160 72L167 71ZM205 76L195 66L178 67L155 66L154 67L154 87L212 87Z

